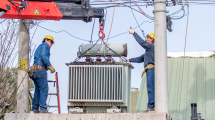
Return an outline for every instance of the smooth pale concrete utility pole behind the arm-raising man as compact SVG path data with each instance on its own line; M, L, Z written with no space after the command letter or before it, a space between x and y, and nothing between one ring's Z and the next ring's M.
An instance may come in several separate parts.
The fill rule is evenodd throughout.
M166 35L166 0L154 0L155 110L169 112Z

